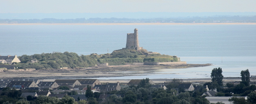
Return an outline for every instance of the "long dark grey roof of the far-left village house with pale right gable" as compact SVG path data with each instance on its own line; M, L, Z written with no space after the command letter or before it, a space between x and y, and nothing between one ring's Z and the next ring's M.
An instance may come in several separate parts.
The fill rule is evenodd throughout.
M7 87L22 88L22 86L24 86L24 88L26 88L26 87L29 87L32 83L33 83L33 81L11 81L7 85Z

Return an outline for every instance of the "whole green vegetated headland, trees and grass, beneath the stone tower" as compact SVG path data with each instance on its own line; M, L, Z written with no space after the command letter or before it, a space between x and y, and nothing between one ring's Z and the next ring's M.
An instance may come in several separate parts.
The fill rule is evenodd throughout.
M147 50L115 50L111 54L90 54L81 55L74 52L54 52L34 54L31 56L22 55L18 57L21 63L15 67L35 68L35 69L59 69L61 67L68 68L84 68L94 67L97 63L109 63L109 65L125 65L125 63L143 63L143 62L175 62L178 61L177 56L150 54ZM36 59L37 63L31 60Z

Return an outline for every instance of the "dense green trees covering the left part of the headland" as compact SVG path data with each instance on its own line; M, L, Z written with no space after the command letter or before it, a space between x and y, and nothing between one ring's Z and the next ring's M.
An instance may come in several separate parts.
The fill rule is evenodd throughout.
M22 55L18 57L20 63L15 67L18 68L35 68L35 69L59 69L61 67L80 68L93 67L96 65L96 60L90 56L81 55L74 52L53 52L34 55ZM30 63L32 59L37 59L37 63Z

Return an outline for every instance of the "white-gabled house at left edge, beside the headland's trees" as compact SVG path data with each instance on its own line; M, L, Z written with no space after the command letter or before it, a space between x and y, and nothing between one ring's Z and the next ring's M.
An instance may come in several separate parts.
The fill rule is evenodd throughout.
M0 62L6 64L20 63L20 59L17 57L17 55L0 56Z

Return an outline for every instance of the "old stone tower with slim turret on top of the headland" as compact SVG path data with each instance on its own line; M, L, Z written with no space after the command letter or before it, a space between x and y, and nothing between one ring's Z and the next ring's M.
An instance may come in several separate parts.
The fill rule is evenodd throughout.
M139 45L138 29L134 29L134 33L127 34L125 49L140 50L142 47Z

